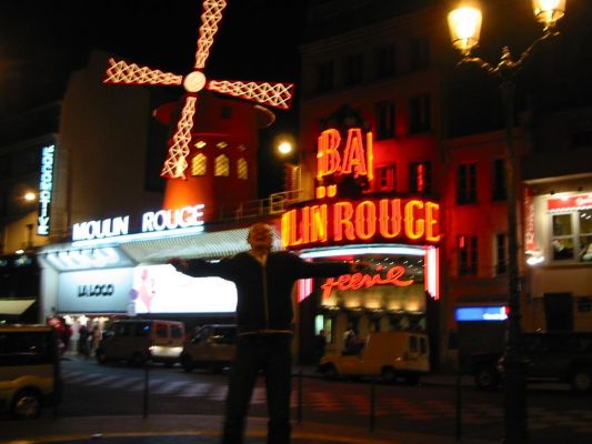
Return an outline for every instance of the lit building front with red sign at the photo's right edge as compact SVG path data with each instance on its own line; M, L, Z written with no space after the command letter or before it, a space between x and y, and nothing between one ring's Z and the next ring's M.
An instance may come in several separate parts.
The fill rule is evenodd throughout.
M526 194L524 213L532 330L591 331L592 194Z

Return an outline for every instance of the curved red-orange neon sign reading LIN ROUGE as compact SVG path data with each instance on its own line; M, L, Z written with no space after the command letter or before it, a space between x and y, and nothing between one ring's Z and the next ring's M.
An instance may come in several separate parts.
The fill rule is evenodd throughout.
M440 205L419 199L365 199L304 205L282 215L284 248L327 243L440 241Z

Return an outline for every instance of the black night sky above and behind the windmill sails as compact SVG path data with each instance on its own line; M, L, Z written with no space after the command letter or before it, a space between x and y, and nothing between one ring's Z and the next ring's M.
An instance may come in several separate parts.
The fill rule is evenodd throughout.
M100 48L151 68L185 74L194 63L201 0L4 0L0 8L0 119L59 99L69 73ZM209 78L297 83L307 1L228 0ZM275 47L280 46L278 50ZM98 79L100 81L100 79ZM262 133L294 129L297 110L277 111ZM265 154L265 153L263 153ZM273 167L269 155L263 168ZM281 167L274 183L281 186ZM280 178L280 179L279 179ZM279 183L278 183L279 181Z

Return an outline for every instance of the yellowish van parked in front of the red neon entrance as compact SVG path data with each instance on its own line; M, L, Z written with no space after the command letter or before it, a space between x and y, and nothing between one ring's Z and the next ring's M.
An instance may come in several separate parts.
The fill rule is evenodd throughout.
M417 384L430 372L430 347L423 333L397 331L370 333L358 354L321 357L319 371L328 377L374 376L384 382L403 377Z

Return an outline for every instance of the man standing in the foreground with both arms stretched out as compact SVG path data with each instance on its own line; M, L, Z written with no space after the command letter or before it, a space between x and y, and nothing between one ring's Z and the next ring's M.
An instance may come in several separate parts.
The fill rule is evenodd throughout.
M222 259L171 259L190 276L219 276L237 286L237 351L232 361L222 444L241 444L245 417L259 371L265 379L268 444L290 443L292 369L292 287L305 278L330 278L362 271L365 263L307 262L287 251L271 251L271 226L249 229L249 251ZM212 295L215 297L215 295Z

